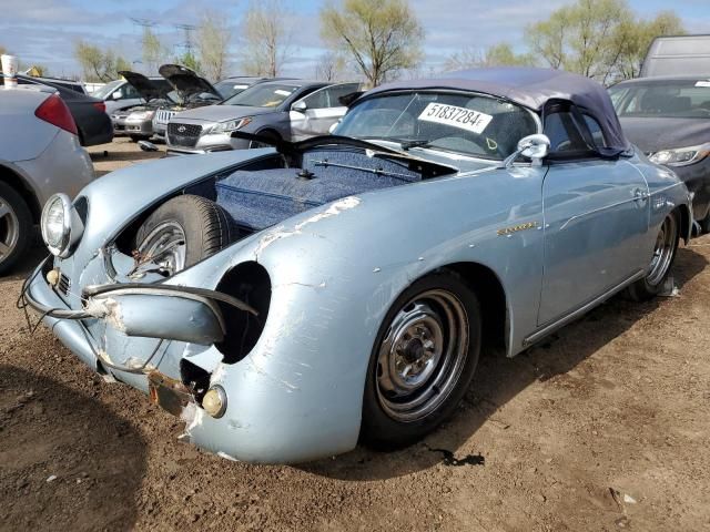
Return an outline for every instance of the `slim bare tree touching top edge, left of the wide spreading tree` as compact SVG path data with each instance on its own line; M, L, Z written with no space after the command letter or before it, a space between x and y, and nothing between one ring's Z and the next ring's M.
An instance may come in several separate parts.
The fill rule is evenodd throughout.
M274 78L291 55L290 13L281 0L252 1L242 22L242 70Z

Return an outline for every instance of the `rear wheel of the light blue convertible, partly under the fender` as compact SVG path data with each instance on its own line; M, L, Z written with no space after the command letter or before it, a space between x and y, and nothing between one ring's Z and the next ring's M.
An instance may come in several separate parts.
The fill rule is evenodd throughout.
M648 275L629 287L629 294L632 299L645 301L660 294L676 258L679 239L680 224L678 214L670 213L663 219L656 236L656 245L653 246Z

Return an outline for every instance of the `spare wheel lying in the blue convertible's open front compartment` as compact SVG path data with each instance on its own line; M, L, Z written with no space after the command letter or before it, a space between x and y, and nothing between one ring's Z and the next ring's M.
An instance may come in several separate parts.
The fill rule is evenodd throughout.
M174 275L224 249L237 238L231 217L201 196L174 197L158 207L138 229L135 249L144 260Z

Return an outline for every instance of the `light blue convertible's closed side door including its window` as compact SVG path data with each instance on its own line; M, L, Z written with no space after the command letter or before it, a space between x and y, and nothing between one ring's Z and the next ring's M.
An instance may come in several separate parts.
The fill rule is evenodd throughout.
M589 150L604 143L589 115L558 108L547 114L549 171L542 182L545 270L538 325L584 308L643 272L648 185L623 157Z

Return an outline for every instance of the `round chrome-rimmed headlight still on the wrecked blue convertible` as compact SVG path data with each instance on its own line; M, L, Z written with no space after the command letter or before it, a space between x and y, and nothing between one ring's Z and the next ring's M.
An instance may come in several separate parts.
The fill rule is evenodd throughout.
M58 257L67 257L84 232L84 224L67 194L54 194L47 201L40 225L44 244Z

